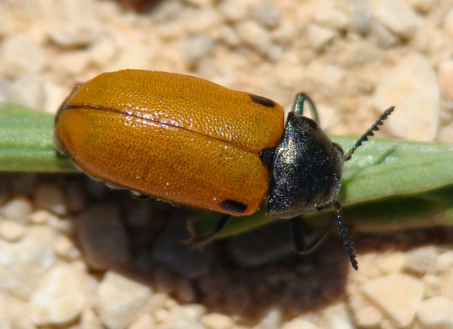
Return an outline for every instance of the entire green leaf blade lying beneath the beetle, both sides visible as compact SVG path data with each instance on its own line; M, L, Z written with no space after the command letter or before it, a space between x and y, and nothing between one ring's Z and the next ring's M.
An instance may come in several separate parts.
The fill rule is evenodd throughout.
M53 115L0 103L0 171L77 172L53 147ZM332 136L345 150L356 137ZM453 144L372 138L344 163L340 201L358 229L453 223ZM264 225L264 206L235 217L218 237ZM312 222L331 214L310 213ZM189 221L194 235L210 232L221 215L200 212Z

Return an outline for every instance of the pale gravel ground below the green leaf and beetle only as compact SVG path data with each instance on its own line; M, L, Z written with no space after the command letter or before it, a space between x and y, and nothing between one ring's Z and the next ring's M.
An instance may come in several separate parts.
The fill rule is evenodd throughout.
M69 185L74 179L69 180ZM59 184L48 182L48 180L46 184L52 190L62 190ZM87 194L87 192L82 193ZM105 197L111 199L115 197L115 193L115 191L110 191ZM91 193L88 194L93 196ZM125 195L127 194L123 193L115 198L122 200ZM61 198L65 200L63 194ZM95 203L98 202L95 201ZM144 207L140 210L134 208L134 202L136 203L136 201L129 201L129 205L125 209L137 210L133 211L137 216L140 216L139 214L153 216L157 212L168 211L159 203L153 203L150 208ZM222 313L211 309L212 304L208 299L206 305L197 303L197 296L193 290L195 289L193 280L196 278L192 280L186 278L184 274L175 275L169 272L168 268L162 268L162 265L159 267L150 259L143 259L141 264L134 264L133 255L129 256L129 260L117 258L115 261L112 258L113 255L121 255L127 251L121 245L117 245L117 250L115 244L108 246L106 249L109 251L108 253L106 250L99 250L98 254L96 254L96 250L88 251L88 254L94 253L96 257L102 257L102 255L106 258L110 257L108 262L104 263L107 270L90 271L89 264L92 260L87 258L87 254L81 254L78 249L78 246L81 245L80 240L76 239L75 244L72 240L73 224L77 223L78 219L75 218L69 222L66 222L65 219L58 220L58 217L43 209L30 212L27 207L23 206L27 203L25 197L13 197L11 202L0 207L0 212L5 212L6 209L8 213L14 214L13 218L16 220L3 218L1 222L3 225L15 223L24 227L24 233L17 240L11 241L0 235L0 275L2 277L0 306L3 305L0 321L2 323L15 326L25 325L27 328L43 325L67 327L72 323L80 325L82 328L105 326L114 329L152 327L161 329L245 329L249 327L255 329L280 327L348 329L354 328L354 325L378 328L416 328L418 325L448 328L453 323L450 312L453 305L453 252L448 249L448 246L415 246L407 252L390 250L384 253L360 253L358 255L360 262L358 272L353 272L346 264L346 269L348 269L346 295L334 302L320 304L315 309L293 313L289 318L286 306L280 304L282 300L277 302L279 297L276 295L276 304L271 303L271 307L267 310L264 309L264 312L261 312L252 323L247 321L244 323L245 318L242 316L256 311L253 310L252 305L257 303L257 300L254 299L254 296L244 295L247 291L247 289L244 290L246 287L238 286L244 285L244 282L236 281L234 277L230 278L231 274L228 273L228 270L224 269L223 271L226 272L223 273L222 271L211 272L209 279L208 277L203 278L202 274L199 275L201 275L202 281L208 285L207 289L221 288L222 291L231 291L234 297L228 303L237 304L239 307L245 303L244 305L247 306L243 306L245 309L242 309L242 315L234 315L235 312L229 311ZM131 206L133 208L130 208ZM95 218L91 218L93 222L105 220L102 218L102 209L107 218L112 218L111 206L108 203L103 201L97 208L97 215ZM172 210L172 212L174 211ZM24 220L21 217L34 219ZM115 224L115 227L118 233L124 234L123 238L129 244L135 245L134 248L138 248L140 245L141 235L133 232L126 233L126 226L147 234L149 223L156 225L156 220L168 221L148 217L150 221L146 222L143 218L132 219L133 217L132 213L128 216L119 216L116 220L123 225ZM17 224L18 221L25 224ZM130 224L133 225L130 226ZM164 233L162 228L158 230L161 232L160 234L168 234ZM91 236L92 239L98 237L98 247L96 248L103 248L103 243L109 245L109 240L115 239L115 237L103 237L102 227L93 231L92 229L87 230L84 226L78 226L75 232L78 236ZM148 236L146 234L145 237ZM180 235L177 234L177 236ZM152 248L146 245L141 248L141 252L154 253ZM333 252L332 248L335 248L335 245L330 243L327 248L328 253ZM343 259L341 246L340 251L340 257ZM216 260L218 261L221 256L221 253L216 254ZM251 279L262 281L263 284L274 282L274 280L280 284L283 284L285 280L294 281L295 286L284 284L280 288L286 290L285 294L289 294L289 298L291 291L297 288L297 276L304 276L304 268L313 266L313 263L308 259L307 261L297 263L300 262L299 259L293 263L294 273L291 268L288 271L282 270L281 264L276 267L270 264L268 269L264 267L259 271L264 271L261 276L256 276L255 279L251 277ZM326 260L326 262L331 261ZM171 262L167 262L168 267L171 268ZM175 262L180 263L179 260L175 260ZM211 264L210 267L218 267L221 264L221 262L216 264L212 261L207 262ZM148 266L147 268L143 267L145 264ZM119 272L112 271L114 268L117 268ZM202 268L199 268L199 271ZM315 267L314 278L320 269L322 268L316 269ZM234 271L236 275L250 275L248 273L250 270L245 270L243 274L239 268L230 270ZM204 268L202 271L209 272L210 270ZM306 273L305 276L313 276L310 272ZM223 279L222 276L224 276ZM330 280L334 279L335 277L330 278ZM165 284L167 288L160 285L159 280L167 280ZM252 283L255 284L250 282L250 289L256 289L252 288ZM323 285L328 284L331 282L323 283ZM256 294L259 289L252 293ZM266 288L262 286L261 289ZM201 291L198 290L198 293ZM272 294L272 292L269 293ZM300 293L301 295L297 298L305 299L304 293L310 293L310 291L303 289ZM209 298L215 298L215 296L215 292L208 295ZM229 298L228 294L223 297ZM273 296L267 297L270 300L274 298ZM297 301L297 298L293 300ZM248 299L251 303L248 302ZM256 324L254 325L253 322Z

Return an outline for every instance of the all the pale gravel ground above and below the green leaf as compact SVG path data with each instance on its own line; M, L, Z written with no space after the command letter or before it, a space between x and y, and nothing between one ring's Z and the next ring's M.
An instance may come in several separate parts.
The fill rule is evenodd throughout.
M329 133L362 133L396 105L381 136L453 141L449 0L170 0L141 15L110 1L23 0L0 2L0 21L0 100L53 113L79 81L121 68L155 69L263 95L286 109L296 92L306 91L326 109L321 119ZM156 236L146 229L162 227L143 218L165 218L165 209L132 203L134 210L120 214L115 206L106 209L109 194L99 184L68 181L64 187L34 176L0 181L0 323L6 327L453 326L451 247L361 253L359 271L349 269L344 280L347 294L290 318L288 305L275 297L253 326L197 303L189 279L153 263L146 241ZM91 218L102 225L61 217L87 216L96 207L110 213ZM109 229L101 232L103 225ZM133 264L129 248L137 253ZM273 299L265 295L267 279L294 282L290 300L310 264L294 272L282 265L263 270L258 296ZM249 274L235 270L238 281L231 282L224 264L217 266L197 292L215 292L221 283L209 295L214 305L235 301L253 313L253 297L238 287L244 285L238 278Z

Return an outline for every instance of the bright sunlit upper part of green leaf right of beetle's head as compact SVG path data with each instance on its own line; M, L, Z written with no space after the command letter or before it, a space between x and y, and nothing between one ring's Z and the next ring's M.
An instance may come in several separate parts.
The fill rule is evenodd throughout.
M332 136L345 147L353 139ZM413 194L453 184L453 144L374 138L345 162L340 201L346 204Z

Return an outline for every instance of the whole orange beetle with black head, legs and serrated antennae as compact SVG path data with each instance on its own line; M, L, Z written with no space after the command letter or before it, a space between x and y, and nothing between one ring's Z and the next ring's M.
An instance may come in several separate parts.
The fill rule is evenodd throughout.
M290 219L296 249L308 253L300 215L334 209L350 262L357 262L338 202L343 162L393 111L387 109L346 154L303 115L296 95L284 123L274 101L194 76L146 70L102 73L75 88L55 116L54 143L82 171L109 185L230 216L257 211Z

